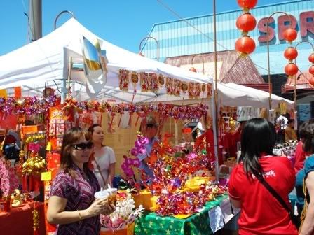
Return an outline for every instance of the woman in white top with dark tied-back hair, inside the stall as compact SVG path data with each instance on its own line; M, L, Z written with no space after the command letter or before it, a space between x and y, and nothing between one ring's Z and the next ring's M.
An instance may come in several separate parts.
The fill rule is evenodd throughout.
M114 180L116 156L112 148L102 145L104 141L104 130L99 124L93 124L88 131L92 134L92 140L95 146L94 173L98 183L100 183L100 187L107 188L108 184L112 186Z

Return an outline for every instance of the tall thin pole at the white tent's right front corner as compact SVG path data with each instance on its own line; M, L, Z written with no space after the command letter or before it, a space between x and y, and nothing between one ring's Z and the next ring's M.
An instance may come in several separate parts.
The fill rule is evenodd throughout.
M219 157L218 157L218 79L217 79L217 38L216 38L216 0L213 0L213 20L214 20L214 155L216 182L219 181Z

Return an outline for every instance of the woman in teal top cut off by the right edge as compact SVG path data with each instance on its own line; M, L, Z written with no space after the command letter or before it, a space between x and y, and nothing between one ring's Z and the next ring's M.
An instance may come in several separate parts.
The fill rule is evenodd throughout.
M299 171L296 178L303 176L303 187L306 189L304 203L306 204L301 214L300 234L314 234L314 119L308 120L306 129L303 130L303 150L310 152L304 162L304 168Z

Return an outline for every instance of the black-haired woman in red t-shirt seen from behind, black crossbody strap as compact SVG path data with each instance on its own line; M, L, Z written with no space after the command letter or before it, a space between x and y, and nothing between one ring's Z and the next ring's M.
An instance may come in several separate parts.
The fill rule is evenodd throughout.
M297 234L289 212L265 186L271 185L289 205L294 169L287 157L273 156L275 141L275 127L264 118L248 120L243 128L239 163L229 182L231 203L241 208L240 235Z

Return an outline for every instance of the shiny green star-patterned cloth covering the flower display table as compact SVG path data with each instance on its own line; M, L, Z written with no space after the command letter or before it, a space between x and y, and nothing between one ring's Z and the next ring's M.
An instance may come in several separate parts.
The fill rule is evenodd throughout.
M213 234L210 229L210 218L208 211L219 206L221 201L228 198L227 195L217 197L214 201L209 201L200 213L195 213L186 219L177 219L172 216L161 217L156 213L146 211L141 218L135 222L135 234L161 234L161 235L206 235Z

